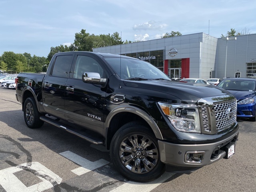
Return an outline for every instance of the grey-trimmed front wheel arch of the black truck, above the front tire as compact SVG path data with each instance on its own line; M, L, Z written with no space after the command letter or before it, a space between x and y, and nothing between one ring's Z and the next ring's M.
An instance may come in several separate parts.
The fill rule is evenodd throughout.
M104 131L106 148L110 148L111 140L118 129L128 122L140 121L152 130L157 139L163 139L162 133L154 119L144 110L132 106L119 106L112 110L106 118Z

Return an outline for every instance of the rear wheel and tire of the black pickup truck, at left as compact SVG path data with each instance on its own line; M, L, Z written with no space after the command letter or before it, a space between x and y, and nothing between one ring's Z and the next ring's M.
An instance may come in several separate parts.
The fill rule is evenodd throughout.
M24 102L24 120L29 128L40 128L44 122L40 120L39 113L34 98L28 97Z

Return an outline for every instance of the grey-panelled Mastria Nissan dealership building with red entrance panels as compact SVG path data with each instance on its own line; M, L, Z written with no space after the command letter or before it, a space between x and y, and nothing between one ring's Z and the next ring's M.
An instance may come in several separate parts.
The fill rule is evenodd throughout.
M204 33L94 48L146 60L172 78L256 77L256 34L216 38Z

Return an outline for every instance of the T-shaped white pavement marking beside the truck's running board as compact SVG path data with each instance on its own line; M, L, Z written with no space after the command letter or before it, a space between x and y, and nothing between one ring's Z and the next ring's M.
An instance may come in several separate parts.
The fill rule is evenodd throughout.
M106 161L104 159L100 159L95 162L91 162L91 161L87 160L86 158L83 158L75 153L70 152L70 151L62 152L62 153L60 153L60 155L66 157L69 160L75 162L76 164L79 164L80 166L82 166L82 167L76 168L74 170L71 170L74 174L77 174L77 175L85 174L89 171L92 171L94 169L97 169L97 168L109 163L108 161Z

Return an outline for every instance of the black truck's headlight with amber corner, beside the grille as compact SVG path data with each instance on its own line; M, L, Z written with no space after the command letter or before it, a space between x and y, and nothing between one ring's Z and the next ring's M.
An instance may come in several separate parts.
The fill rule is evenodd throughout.
M162 112L178 131L200 133L199 112L196 106L158 102Z

